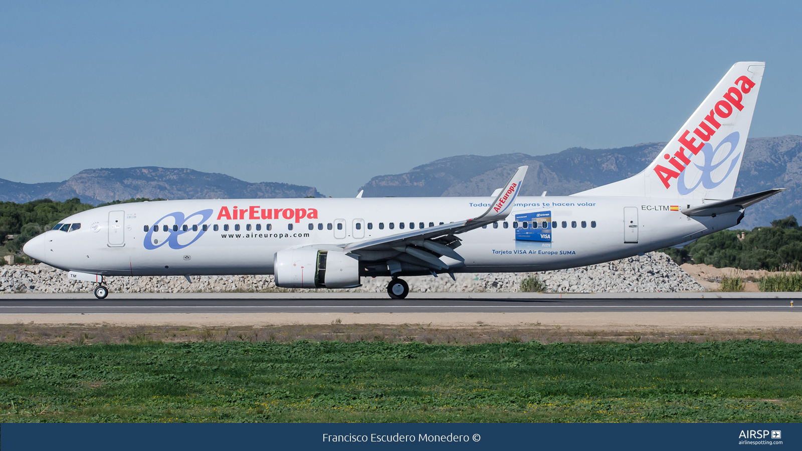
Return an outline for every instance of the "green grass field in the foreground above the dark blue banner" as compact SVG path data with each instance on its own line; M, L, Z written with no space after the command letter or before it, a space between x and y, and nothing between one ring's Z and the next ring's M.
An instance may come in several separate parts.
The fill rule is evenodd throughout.
M802 420L802 345L0 343L0 421Z

